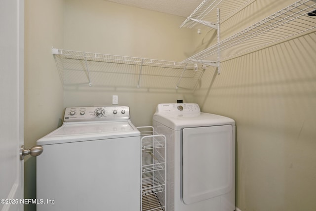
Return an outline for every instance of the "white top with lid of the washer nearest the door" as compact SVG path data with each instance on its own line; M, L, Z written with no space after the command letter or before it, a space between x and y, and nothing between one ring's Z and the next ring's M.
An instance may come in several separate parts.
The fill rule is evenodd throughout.
M140 136L140 132L130 122L64 124L40 138L37 144L60 144L132 136Z

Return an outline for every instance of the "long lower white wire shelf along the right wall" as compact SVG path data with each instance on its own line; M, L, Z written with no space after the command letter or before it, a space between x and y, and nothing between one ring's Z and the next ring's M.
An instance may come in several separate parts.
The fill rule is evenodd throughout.
M203 63L215 60L220 48L220 61L235 58L244 53L284 39L315 30L315 0L299 0L273 15L251 25L239 33L220 41L180 63Z

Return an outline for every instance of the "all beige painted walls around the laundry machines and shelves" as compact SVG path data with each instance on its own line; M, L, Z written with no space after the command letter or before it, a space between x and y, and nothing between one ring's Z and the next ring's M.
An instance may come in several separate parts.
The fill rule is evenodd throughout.
M291 3L254 1L222 24L221 39ZM76 84L77 76L65 78L63 86L51 46L182 61L214 43L214 30L197 35L179 29L185 18L104 0L25 4L27 147L59 126L66 106L110 105L112 95L118 95L120 105L130 106L132 122L143 126L151 124L158 103L197 102L204 112L236 120L239 209L315 211L315 33L222 62L221 75L209 67L194 93L175 89L180 70L165 77L170 72L161 68L144 68L140 88L139 67L118 66L92 72L91 87ZM25 164L25 197L35 198L35 159Z

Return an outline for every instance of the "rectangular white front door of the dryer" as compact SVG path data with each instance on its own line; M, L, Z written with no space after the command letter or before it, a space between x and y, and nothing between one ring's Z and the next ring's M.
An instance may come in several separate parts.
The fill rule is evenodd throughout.
M183 129L182 199L185 204L229 193L233 187L231 125Z

